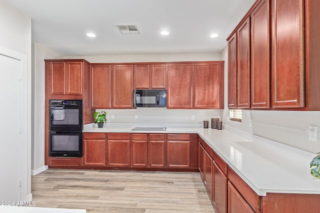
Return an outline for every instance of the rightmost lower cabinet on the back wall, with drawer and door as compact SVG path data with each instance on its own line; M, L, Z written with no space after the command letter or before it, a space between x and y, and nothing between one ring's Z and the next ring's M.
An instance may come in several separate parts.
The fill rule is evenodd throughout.
M167 168L190 167L190 134L167 134Z

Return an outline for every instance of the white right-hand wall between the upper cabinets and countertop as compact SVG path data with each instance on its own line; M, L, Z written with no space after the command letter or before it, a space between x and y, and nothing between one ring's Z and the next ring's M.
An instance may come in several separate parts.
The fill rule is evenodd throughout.
M221 59L225 61L223 111L225 125L311 153L320 152L320 134L318 133L318 142L313 142L308 140L308 133L303 131L309 125L320 127L320 111L242 110L241 123L227 122L227 46L221 52ZM253 128L249 127L250 119L253 119Z

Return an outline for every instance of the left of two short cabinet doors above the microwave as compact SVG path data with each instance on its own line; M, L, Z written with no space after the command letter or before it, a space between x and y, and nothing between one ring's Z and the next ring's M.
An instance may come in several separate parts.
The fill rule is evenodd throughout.
M135 89L149 89L150 75L149 64L134 65L134 88Z

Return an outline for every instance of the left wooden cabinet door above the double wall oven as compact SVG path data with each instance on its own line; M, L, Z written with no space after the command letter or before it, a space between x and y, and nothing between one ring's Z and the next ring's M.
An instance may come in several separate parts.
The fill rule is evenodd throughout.
M65 64L64 62L50 62L50 94L65 94Z

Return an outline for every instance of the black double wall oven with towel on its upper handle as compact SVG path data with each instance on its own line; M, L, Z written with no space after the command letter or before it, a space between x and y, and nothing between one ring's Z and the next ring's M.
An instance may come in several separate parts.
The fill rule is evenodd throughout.
M82 100L49 100L49 157L82 157Z

